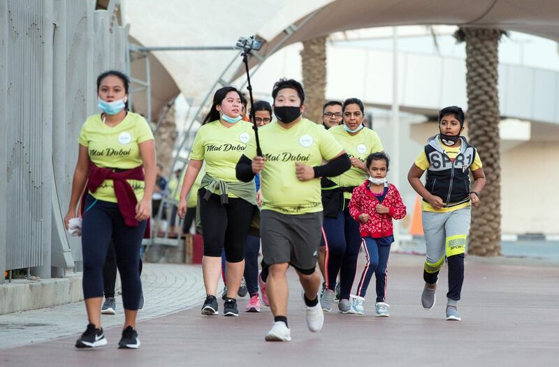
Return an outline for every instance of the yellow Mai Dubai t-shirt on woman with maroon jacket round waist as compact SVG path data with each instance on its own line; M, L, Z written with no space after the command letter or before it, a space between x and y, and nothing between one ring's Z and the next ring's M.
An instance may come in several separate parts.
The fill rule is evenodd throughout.
M117 126L110 127L103 122L101 114L89 117L80 130L78 142L87 147L89 159L99 167L130 170L142 165L140 156L141 142L153 140L150 125L140 115L128 112ZM136 199L144 195L144 181L126 180L132 186ZM90 193L97 200L117 202L112 180L105 180L95 193Z

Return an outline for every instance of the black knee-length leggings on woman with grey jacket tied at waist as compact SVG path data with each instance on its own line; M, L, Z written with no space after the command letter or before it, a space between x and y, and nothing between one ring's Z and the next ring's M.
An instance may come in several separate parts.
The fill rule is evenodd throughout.
M238 197L229 197L228 203L222 205L216 194L205 200L205 192L205 189L198 192L204 256L221 257L225 248L228 262L241 262L245 258L245 243L254 206Z

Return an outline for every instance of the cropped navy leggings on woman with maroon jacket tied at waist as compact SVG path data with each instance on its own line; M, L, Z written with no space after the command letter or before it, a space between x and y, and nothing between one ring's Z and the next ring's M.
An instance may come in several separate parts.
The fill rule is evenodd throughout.
M126 310L137 310L142 284L140 281L140 246L147 222L138 227L124 224L114 202L85 198L82 223L83 294L84 298L103 297L103 265L110 239L115 242L117 267L122 283L122 303Z

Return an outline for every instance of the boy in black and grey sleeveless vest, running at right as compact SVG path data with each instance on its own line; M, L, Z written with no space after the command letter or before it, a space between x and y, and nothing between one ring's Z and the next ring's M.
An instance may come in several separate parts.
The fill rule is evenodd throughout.
M460 107L445 107L439 112L439 134L430 137L407 174L409 184L423 197L422 220L427 248L423 270L425 287L421 304L435 306L439 271L447 256L449 292L447 320L460 321L458 300L464 281L464 253L470 230L470 204L477 207L485 186L485 174L477 150L460 136L464 112ZM427 171L426 184L421 176ZM474 186L470 190L470 171Z

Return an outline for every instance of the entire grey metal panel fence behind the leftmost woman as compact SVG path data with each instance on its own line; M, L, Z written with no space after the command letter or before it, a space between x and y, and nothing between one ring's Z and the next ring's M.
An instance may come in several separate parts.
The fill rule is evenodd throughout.
M124 70L129 29L117 25L118 0L110 11L95 3L0 0L0 271L46 278L81 260L62 223L78 134L99 112L96 75Z

